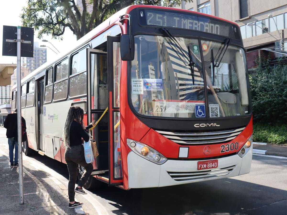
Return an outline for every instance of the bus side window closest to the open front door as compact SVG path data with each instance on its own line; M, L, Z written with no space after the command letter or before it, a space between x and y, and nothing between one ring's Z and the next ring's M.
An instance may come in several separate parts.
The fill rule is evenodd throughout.
M87 94L87 58L86 48L74 54L71 58L71 74L69 77L69 96L75 97Z

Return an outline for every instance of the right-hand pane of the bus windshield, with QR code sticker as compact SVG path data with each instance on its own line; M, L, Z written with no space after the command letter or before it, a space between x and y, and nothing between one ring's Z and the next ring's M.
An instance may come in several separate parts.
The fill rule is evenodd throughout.
M208 90L208 116L227 117L249 114L244 50L231 45L226 48L224 42L202 40L202 44L209 44L210 47L206 52L203 51ZM208 67L208 65L214 65L214 67Z

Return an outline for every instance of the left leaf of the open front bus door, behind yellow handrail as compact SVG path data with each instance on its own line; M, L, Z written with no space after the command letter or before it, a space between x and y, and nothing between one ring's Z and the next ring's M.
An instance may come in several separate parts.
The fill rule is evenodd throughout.
M96 49L87 49L87 116L88 123L97 121L108 107L107 55ZM99 156L94 161L94 169L108 171L108 113L92 130Z

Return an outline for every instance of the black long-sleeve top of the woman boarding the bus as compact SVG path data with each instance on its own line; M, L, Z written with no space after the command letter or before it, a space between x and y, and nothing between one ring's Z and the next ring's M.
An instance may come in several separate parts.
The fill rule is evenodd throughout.
M89 128L92 128L92 125L86 126L86 129ZM82 138L87 142L90 137L78 122L73 121L70 127L70 146L82 144Z

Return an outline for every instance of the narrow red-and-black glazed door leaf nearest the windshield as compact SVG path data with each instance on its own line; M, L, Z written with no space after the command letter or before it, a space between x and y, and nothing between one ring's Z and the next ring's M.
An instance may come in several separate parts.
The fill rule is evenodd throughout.
M108 82L109 87L109 185L123 184L120 133L120 37L108 36Z

